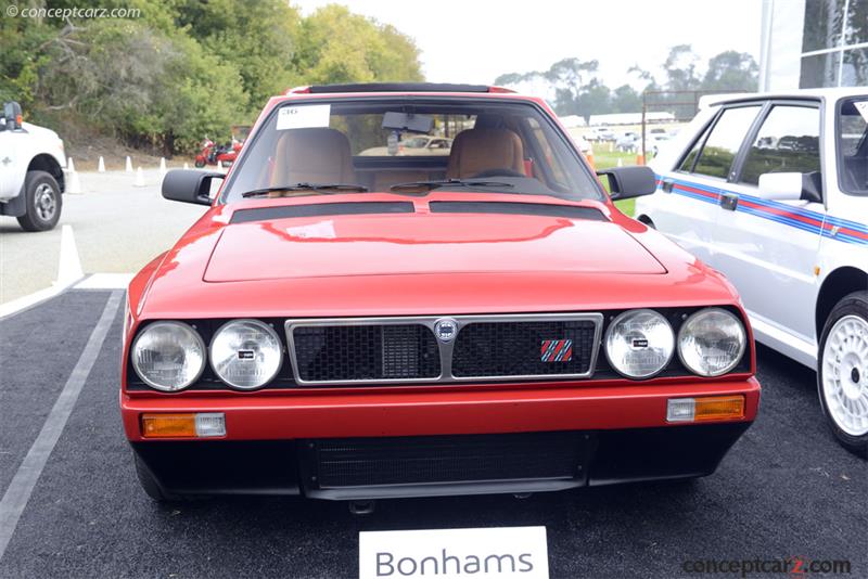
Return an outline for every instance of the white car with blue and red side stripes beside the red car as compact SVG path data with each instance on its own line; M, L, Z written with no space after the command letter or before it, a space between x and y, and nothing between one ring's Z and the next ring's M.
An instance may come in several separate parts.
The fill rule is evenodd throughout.
M636 217L732 282L757 342L817 370L832 432L868 454L868 90L701 104Z

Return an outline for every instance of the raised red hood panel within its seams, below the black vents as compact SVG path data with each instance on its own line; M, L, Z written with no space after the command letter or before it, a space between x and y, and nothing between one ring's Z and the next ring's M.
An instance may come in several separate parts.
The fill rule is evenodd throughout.
M609 221L397 214L227 226L204 280L503 272L661 274L666 270Z

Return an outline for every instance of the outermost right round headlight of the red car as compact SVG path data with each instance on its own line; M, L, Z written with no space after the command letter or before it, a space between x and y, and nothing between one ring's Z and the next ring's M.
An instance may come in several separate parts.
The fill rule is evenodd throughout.
M678 332L681 362L701 376L719 376L736 368L746 345L741 321L719 308L693 313Z

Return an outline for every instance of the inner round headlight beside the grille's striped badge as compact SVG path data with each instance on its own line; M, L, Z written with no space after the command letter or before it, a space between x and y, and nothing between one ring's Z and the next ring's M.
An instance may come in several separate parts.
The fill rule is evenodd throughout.
M648 378L666 368L675 352L675 335L654 310L630 310L615 318L605 332L605 357L620 374Z

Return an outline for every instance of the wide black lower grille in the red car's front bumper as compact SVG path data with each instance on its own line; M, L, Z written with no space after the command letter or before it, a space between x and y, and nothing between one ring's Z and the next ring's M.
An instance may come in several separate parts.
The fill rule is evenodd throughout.
M570 479L585 439L577 433L347 438L309 441L322 489L463 481Z

